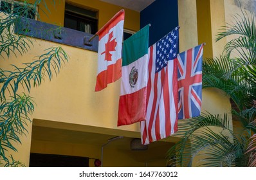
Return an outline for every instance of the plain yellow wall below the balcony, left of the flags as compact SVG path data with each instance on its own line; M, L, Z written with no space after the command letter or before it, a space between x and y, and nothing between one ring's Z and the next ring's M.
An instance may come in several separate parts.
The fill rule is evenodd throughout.
M32 48L30 57L24 55L24 60L58 45L44 40L37 40L35 44L39 47ZM37 100L33 118L116 129L120 82L95 93L97 53L71 46L63 48L70 59L60 75L50 83L46 80L30 93ZM137 131L138 127L129 126L129 129Z

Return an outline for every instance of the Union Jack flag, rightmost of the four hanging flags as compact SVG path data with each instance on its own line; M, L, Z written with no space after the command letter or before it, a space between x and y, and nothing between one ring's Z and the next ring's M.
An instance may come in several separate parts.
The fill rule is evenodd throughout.
M178 119L199 116L202 104L203 44L178 55Z

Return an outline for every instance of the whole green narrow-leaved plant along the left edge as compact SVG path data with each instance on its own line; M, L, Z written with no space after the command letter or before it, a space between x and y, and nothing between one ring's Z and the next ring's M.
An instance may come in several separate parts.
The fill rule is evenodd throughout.
M41 2L41 0L35 0L33 4L24 1L22 6L18 4L13 8L10 6L12 3L15 2L1 1L1 60L10 56L18 58L18 54L23 55L28 52L35 39L26 36L26 33L23 35L19 34L19 31L14 33L14 26L19 26L19 22L26 21L32 14L40 19L36 7L40 3L46 6L45 1ZM41 85L44 78L51 79L53 75L57 75L65 62L68 62L68 55L64 49L52 47L31 62L24 63L22 67L12 65L12 71L0 68L0 166L24 166L13 158L12 152L17 151L15 144L21 143L21 136L28 132L26 128L31 122L31 114L35 109L35 102L29 95L30 89ZM6 152L11 154L10 157Z

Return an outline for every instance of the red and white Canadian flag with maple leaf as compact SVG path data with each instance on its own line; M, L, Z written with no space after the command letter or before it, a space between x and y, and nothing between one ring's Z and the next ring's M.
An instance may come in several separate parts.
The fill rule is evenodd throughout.
M124 10L120 10L96 33L99 42L95 91L101 91L122 76L123 22Z

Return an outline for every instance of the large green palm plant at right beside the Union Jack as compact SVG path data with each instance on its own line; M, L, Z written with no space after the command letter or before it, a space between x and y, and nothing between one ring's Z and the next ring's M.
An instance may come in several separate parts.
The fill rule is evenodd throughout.
M223 27L216 40L235 38L226 44L221 57L203 62L203 88L221 89L230 97L232 111L179 120L182 138L168 152L176 166L191 167L195 159L204 167L256 166L255 14L242 12L233 19L235 23ZM240 131L230 127L230 114Z

